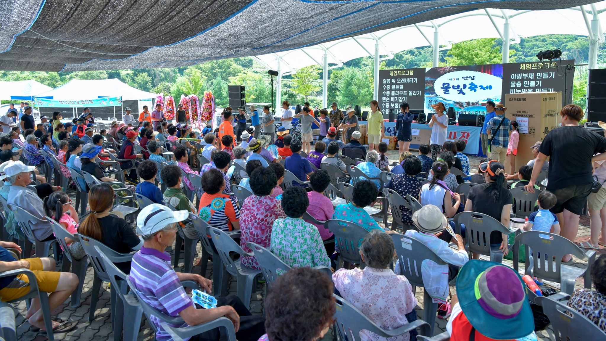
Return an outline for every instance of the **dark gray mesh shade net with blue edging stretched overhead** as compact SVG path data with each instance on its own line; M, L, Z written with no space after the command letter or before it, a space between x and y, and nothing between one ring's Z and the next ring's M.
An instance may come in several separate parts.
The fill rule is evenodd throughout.
M212 59L318 46L483 8L544 11L590 3L586 0L4 2L7 5L0 7L3 18L0 69L65 72L191 66ZM544 25L547 22L550 33L558 27L557 22L545 21L541 16L533 19ZM584 24L582 18L578 24ZM465 26L455 25L448 36L457 36L459 30L492 30L477 25L474 19ZM429 33L433 35L433 30ZM406 32L396 34L391 40L404 42L406 46ZM414 45L413 42L411 39L410 44ZM388 42L384 45L385 52L401 48L391 48ZM335 63L344 59L339 54L348 53L346 49L345 45L338 52L331 49ZM311 52L310 60L323 56L323 52Z

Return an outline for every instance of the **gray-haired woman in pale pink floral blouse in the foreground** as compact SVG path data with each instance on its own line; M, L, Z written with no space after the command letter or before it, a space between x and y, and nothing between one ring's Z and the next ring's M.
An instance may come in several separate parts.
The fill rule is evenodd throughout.
M381 231L370 231L360 252L366 268L338 269L333 274L339 295L383 329L393 330L415 321L416 314L410 314L417 304L412 286L406 277L389 268L396 253L391 237ZM389 339L365 330L360 334L362 340L410 340L410 333Z

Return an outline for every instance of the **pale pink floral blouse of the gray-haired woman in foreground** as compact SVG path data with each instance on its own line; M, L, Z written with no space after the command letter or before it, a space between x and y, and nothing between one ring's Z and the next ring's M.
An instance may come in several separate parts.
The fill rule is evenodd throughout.
M383 329L393 330L407 325L405 315L417 305L412 286L406 277L394 274L391 269L375 269L370 266L364 270L338 269L333 274L333 282L335 288L341 292L341 297ZM385 338L362 330L360 339L408 341L410 334Z

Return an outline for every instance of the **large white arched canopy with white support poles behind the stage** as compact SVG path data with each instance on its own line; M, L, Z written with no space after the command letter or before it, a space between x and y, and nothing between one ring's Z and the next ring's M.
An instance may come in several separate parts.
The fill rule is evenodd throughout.
M375 58L375 75L379 63L407 49L438 46L434 49L433 64L438 66L438 51L450 49L456 42L478 38L501 38L503 50L520 38L548 34L585 35L590 39L590 68L596 67L597 42L604 41L601 20L606 20L606 1L564 8L561 10L499 10L481 9L444 16L418 24L381 30L301 49L287 50L254 58L271 70L278 70L278 103L280 102L280 78L302 67L319 65L324 70L341 67L344 62L363 56ZM559 46L545 46L545 50ZM594 48L595 47L595 48ZM502 62L508 62L508 53ZM324 72L323 106L327 106L327 72ZM375 77L375 91L377 89ZM376 97L376 93L375 93Z

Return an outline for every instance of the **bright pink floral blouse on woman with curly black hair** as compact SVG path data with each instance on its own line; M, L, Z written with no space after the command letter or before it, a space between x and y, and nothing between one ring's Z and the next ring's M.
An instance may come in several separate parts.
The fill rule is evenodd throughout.
M248 241L270 248L271 226L273 221L286 218L279 200L269 196L258 197L251 195L242 203L240 211L240 246L246 252L253 252L248 248ZM241 257L242 265L251 269L260 269L255 257Z

